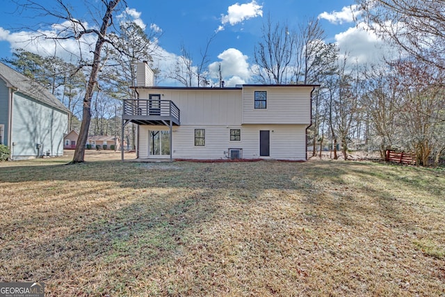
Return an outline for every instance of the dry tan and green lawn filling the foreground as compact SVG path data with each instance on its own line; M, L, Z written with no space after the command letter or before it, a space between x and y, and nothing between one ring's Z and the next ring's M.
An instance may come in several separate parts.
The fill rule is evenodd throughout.
M445 170L0 163L0 282L45 296L445 296ZM108 161L107 161L108 160Z

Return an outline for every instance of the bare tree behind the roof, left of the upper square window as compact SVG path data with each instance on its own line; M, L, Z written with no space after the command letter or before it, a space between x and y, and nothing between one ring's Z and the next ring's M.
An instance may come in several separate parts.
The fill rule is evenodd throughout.
M270 16L261 28L261 41L254 47L254 75L260 83L290 83L296 35L285 24L272 24Z

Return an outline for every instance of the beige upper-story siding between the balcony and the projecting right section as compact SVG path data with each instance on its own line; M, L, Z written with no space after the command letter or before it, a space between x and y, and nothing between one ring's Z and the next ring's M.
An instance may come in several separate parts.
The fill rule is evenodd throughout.
M141 99L161 94L178 106L182 125L241 125L241 90L139 90Z

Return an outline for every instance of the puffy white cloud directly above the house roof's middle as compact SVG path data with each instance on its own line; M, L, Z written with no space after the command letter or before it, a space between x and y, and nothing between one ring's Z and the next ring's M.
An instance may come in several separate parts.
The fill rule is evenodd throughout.
M221 60L220 62L213 62L209 65L210 76L213 79L219 78L219 65L221 65L221 74L226 81L225 86L235 86L250 79L248 56L238 49L226 49L218 55L218 58Z

